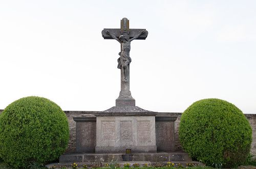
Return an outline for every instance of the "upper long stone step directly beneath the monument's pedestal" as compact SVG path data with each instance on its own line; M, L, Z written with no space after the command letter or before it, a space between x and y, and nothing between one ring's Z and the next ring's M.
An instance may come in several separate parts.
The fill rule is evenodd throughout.
M60 163L69 162L110 162L110 161L192 161L185 152L170 153L133 153L133 154L96 154L96 153L67 153L59 157Z

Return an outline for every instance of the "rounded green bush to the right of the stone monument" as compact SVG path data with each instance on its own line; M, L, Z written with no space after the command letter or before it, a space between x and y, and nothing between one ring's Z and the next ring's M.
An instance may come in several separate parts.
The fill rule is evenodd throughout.
M182 113L179 137L191 158L209 166L233 167L248 157L252 130L245 115L233 104L204 99Z

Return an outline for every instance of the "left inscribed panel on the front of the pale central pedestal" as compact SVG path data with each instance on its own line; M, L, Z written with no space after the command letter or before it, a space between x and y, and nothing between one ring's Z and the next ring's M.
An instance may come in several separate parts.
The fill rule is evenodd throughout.
M115 121L101 121L101 140L115 140Z

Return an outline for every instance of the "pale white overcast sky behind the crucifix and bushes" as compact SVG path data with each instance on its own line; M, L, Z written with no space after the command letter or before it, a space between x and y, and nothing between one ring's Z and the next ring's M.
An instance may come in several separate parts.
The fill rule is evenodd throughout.
M120 91L120 44L104 28L146 29L131 43L136 106L183 112L218 98L256 113L256 1L0 1L0 109L42 96L103 111Z

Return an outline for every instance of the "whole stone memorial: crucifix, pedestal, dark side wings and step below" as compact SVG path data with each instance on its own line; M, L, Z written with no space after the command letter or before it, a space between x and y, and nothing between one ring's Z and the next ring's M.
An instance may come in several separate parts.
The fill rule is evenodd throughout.
M130 161L181 159L180 155L178 158L178 155L157 153L175 151L174 122L177 116L136 106L130 91L131 42L146 39L148 32L130 29L129 20L123 18L120 29L103 29L101 34L104 39L114 39L121 45L119 54L116 53L119 55L120 93L116 105L110 109L73 117L76 122L76 152L60 156L59 162L111 160L102 153L115 154L118 161L125 161L127 153L133 154Z

